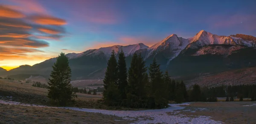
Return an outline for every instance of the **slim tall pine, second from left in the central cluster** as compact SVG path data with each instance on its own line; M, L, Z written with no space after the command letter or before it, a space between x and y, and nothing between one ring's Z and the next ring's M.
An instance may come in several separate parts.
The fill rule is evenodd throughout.
M127 82L127 68L125 62L125 53L121 50L118 56L118 89L122 99L126 99L125 88L128 85Z

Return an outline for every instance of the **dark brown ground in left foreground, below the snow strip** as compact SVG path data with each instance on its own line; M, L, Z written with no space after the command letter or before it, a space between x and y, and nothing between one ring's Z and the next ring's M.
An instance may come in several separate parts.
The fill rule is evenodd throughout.
M0 124L128 124L133 121L100 113L0 104Z

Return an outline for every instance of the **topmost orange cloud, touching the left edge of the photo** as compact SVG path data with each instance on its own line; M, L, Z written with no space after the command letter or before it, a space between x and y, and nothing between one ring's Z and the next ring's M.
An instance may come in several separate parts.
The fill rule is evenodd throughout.
M0 5L0 17L22 18L25 17L25 15L19 11L13 10L12 8Z

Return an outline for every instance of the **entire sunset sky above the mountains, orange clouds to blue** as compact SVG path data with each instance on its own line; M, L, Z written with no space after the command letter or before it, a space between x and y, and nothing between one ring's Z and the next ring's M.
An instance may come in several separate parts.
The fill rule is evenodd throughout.
M256 37L256 0L0 0L0 67L201 30Z

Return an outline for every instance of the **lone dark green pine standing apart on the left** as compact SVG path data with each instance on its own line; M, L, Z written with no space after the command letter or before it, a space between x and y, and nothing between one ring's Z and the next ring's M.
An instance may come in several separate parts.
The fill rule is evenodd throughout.
M52 68L53 70L48 82L48 98L51 101L57 102L59 105L67 105L72 101L72 98L76 97L70 84L71 69L67 56L61 53Z

